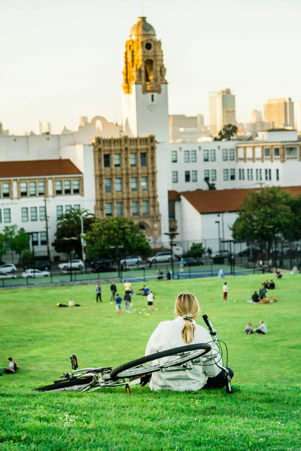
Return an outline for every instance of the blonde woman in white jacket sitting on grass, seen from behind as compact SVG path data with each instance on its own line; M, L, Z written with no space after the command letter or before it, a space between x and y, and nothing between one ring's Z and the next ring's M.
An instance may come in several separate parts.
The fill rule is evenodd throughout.
M196 324L200 313L199 301L190 293L182 293L176 298L176 319L162 321L152 333L146 346L145 355L155 354L185 344L210 343L212 355L222 365L222 356L207 329ZM211 353L205 354L206 356ZM168 357L166 359L169 359ZM201 364L200 364L201 363ZM218 368L213 359L194 364L191 370L153 373L149 387L151 390L199 390L200 388L225 387L227 379L224 370ZM229 369L230 376L233 371Z

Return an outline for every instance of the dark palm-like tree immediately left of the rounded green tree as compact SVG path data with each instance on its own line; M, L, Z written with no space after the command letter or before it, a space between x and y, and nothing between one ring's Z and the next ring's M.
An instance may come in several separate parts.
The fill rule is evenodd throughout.
M56 223L56 238L52 243L52 246L54 246L56 252L69 254L74 250L79 257L82 257L82 246L80 242L81 221L78 215L83 218L84 232L90 230L91 224L95 221L95 216L93 213L90 213L88 210L83 208L71 208L68 213L61 215ZM74 239L73 241L63 239L72 237L77 237L78 239Z

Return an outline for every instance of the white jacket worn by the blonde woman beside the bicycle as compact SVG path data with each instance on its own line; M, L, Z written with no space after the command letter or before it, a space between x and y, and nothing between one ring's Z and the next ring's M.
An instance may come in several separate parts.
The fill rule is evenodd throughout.
M207 329L196 324L194 320L193 324L195 326L195 331L194 339L191 344L210 343L212 351L205 355L216 355L216 361L218 364L222 365L222 356L218 352L216 345L213 343L212 336L209 334ZM145 355L155 354L156 352L177 348L179 346L185 346L185 343L182 341L181 334L183 326L184 319L182 317L177 317L173 321L160 322L148 340ZM168 359L168 357L166 359ZM162 359L160 359L160 362L161 360ZM220 372L221 369L214 363L214 360L209 359L208 361L202 362L202 365L194 364L191 370L173 372L157 371L157 373L152 374L152 378L149 381L149 387L154 391L199 390L204 387L208 377L217 376Z

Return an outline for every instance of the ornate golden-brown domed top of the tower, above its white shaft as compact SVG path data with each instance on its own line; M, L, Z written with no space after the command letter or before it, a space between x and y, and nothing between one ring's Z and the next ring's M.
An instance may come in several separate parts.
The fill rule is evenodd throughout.
M166 69L163 64L161 41L156 39L153 26L145 17L131 28L130 39L125 43L125 68L123 70L123 91L132 93L132 86L142 85L142 93L161 94Z

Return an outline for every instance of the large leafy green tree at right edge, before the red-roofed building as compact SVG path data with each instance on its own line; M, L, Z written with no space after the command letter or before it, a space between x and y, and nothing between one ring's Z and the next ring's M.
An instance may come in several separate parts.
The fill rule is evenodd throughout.
M298 221L300 225L301 198L273 186L249 192L231 230L234 239L257 242L260 249L267 243L269 251L275 239L301 238L300 226L296 229Z

